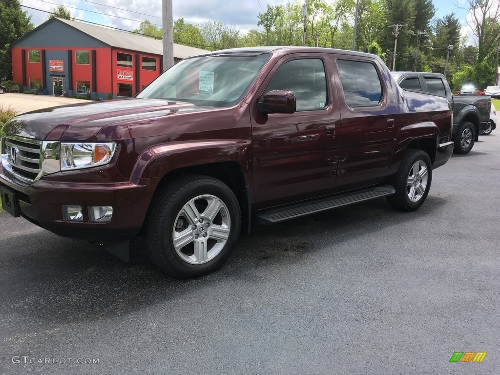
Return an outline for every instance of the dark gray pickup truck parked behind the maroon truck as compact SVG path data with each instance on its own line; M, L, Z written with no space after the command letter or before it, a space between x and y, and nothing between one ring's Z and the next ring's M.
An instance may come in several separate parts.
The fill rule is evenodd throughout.
M443 74L422 71L393 71L401 88L444 96L453 106L453 152L469 153L489 121L491 97L484 95L452 95Z

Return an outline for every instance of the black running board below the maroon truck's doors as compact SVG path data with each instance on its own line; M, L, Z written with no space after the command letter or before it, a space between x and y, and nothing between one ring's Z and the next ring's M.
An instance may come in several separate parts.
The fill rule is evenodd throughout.
M308 200L285 207L270 209L268 211L257 212L253 216L257 223L271 225L280 221L290 220L292 218L310 215L311 213L326 211L344 205L359 203L380 196L392 195L394 193L395 190L392 186L381 185L357 190L355 192L329 196L327 198Z

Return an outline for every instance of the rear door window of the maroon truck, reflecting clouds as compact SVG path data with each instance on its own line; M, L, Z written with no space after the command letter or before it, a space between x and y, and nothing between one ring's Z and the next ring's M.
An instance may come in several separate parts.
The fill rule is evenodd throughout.
M375 65L371 62L339 59L337 66L347 105L378 105L382 98L382 84Z

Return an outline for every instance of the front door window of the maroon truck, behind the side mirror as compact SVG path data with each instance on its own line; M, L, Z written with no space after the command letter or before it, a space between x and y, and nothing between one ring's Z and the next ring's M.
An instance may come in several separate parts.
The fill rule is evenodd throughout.
M297 110L321 109L326 105L326 77L319 58L286 61L267 86L267 91L293 91Z

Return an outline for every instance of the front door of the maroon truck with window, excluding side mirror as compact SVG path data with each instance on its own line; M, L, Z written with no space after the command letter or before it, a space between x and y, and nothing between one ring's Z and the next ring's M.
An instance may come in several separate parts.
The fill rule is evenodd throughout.
M330 76L327 55L291 54L278 61L259 88L251 104L257 208L332 192L340 115ZM257 101L270 90L295 92L296 112L260 113Z

